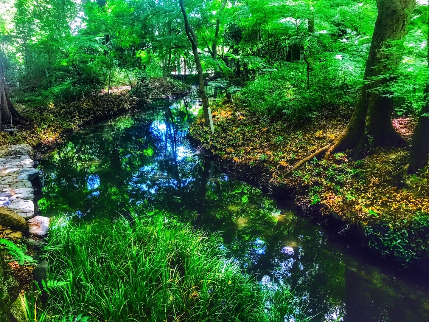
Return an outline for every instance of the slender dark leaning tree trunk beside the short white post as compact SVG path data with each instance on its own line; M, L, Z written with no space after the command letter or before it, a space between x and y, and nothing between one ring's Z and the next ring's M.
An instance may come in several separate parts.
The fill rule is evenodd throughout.
M192 26L190 25L190 23L188 21L186 10L185 10L184 0L179 0L179 5L180 5L180 8L181 8L182 13L183 13L183 19L185 21L186 34L187 34L189 41L192 45L193 58L195 59L196 70L198 72L199 94L200 94L201 100L202 100L202 109L204 110L204 125L208 126L208 125L210 125L210 122L208 120L208 99L207 99L207 95L205 94L204 75L202 73L201 61L200 61L199 55L198 55L198 37L196 36L195 31L193 30Z

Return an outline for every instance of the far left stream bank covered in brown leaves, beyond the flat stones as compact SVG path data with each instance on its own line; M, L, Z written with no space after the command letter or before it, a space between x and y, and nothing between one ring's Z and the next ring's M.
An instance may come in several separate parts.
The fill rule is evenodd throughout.
M40 154L57 148L66 137L85 125L130 112L153 100L174 100L187 94L189 86L176 80L170 79L167 88L164 88L162 79L142 79L135 88L103 89L75 101L45 101L38 98L35 102L27 102L21 98L14 104L23 115L24 124L17 125L16 131L0 132L0 146L28 144L33 148L35 158L40 159ZM28 95L31 96L28 93L20 94L23 97Z

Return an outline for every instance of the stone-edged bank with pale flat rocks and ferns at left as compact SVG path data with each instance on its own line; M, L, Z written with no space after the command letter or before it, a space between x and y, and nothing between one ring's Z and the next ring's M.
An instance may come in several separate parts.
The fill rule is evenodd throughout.
M35 198L41 186L30 155L27 144L0 147L1 321L27 321L23 294L33 283L37 252L49 229Z

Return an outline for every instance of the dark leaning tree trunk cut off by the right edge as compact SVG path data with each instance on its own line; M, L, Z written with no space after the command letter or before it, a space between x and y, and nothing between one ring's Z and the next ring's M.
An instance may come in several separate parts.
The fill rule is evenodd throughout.
M429 20L428 20L429 26ZM427 59L429 68L429 32L427 43ZM424 91L424 105L420 111L420 117L417 121L417 127L414 131L413 141L410 150L410 162L408 164L408 173L415 174L420 169L426 167L428 163L429 152L429 79L426 80L426 87Z

